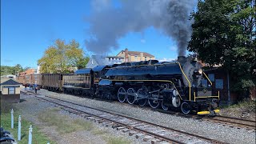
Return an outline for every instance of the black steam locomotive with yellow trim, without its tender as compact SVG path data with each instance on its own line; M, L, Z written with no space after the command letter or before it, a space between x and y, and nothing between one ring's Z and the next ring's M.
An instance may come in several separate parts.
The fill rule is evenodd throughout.
M209 80L196 59L136 62L107 70L98 83L98 93L114 94L119 102L180 109L184 114L218 113L219 94L213 95L211 86L202 86L204 78Z

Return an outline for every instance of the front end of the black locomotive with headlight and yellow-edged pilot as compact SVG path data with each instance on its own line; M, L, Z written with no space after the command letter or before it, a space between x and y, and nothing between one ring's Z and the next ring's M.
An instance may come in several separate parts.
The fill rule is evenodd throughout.
M182 70L182 79L188 91L181 105L182 112L184 114L189 114L191 111L197 114L219 113L219 92L218 95L212 93L212 82L203 72L201 63L197 59L192 59L183 65ZM209 84L202 85L203 79Z

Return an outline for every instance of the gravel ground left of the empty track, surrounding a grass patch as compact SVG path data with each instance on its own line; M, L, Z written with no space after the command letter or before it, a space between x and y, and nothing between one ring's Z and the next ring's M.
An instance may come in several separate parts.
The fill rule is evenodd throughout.
M58 130L56 130L56 126L49 126L45 122L40 122L38 120L38 114L42 113L45 110L50 110L56 108L53 103L46 102L35 98L34 95L21 94L21 102L14 104L16 110L20 111L22 118L25 118L27 121L33 123L40 127L41 131L46 134L51 140L57 143L109 143L109 139L111 138L122 138L123 142L131 142L131 143L149 143L144 142L140 138L130 137L128 133L122 133L122 131L118 131L112 129L111 127L105 127L98 123L92 122L94 129L93 130L79 130L69 134L59 134ZM16 111L15 110L15 111ZM71 119L81 118L77 114L70 114L66 110L59 110L58 114L68 115ZM84 121L85 118L82 118ZM96 131L95 131L96 130ZM95 134L94 134L95 133Z

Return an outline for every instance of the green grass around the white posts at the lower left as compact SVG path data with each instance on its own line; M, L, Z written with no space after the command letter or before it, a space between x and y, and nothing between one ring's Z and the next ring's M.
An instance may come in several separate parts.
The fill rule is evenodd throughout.
M14 108L12 104L6 104L1 102L1 126L5 129L10 131L11 134L14 135L14 139L18 140L18 115L19 111L14 108L14 129L10 129L10 109ZM29 127L30 125L33 126L32 132L32 143L39 144L39 143L55 143L50 141L50 138L47 138L45 134L40 132L38 126L34 126L33 123L26 121L22 118L22 139L18 141L19 144L25 144L28 142L28 135L29 135Z

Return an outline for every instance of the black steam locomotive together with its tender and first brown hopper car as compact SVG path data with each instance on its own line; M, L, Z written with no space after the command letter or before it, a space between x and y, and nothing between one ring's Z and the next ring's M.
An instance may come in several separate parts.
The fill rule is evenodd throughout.
M196 59L177 62L125 62L76 70L74 74L42 74L42 87L64 93L117 99L163 110L180 109L189 114L218 113L219 93L212 94L209 78ZM202 86L202 79L208 86ZM39 84L40 85L40 84Z

